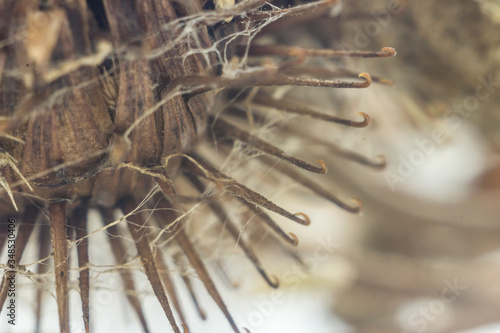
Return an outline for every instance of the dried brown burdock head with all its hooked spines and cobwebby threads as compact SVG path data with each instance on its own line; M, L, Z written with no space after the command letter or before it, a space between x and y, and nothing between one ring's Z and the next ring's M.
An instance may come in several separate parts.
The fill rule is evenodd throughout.
M182 267L167 267L170 260L164 255L175 252L169 249L179 250L182 256L177 255L175 263L192 266L229 325L239 332L202 251L190 237L188 214L183 212L190 206L211 210L267 283L277 288L279 282L264 269L242 232L242 221L230 214L231 206L243 203L247 212L257 214L264 227L290 246L297 245L297 236L284 231L267 212L302 225L310 220L234 180L212 164L213 156L224 156L233 144L251 147L262 153L262 164L284 160L289 164L279 164L276 172L349 212L360 210L358 201L344 202L299 171L322 175L327 169L321 160L311 164L252 133L271 110L354 128L368 125L363 112L359 119L343 119L272 94L276 86L359 89L373 81L367 73L320 72L303 66L312 57L395 55L392 48L334 51L279 44L278 37L290 25L306 27L318 17L334 21L329 12L336 4L335 0L3 1L0 221L6 224L15 218L19 225L11 258L15 264L3 266L0 308L7 298L7 274L46 273L53 258L60 331L69 332L68 253L76 247L83 322L89 332L89 276L94 266L88 240L105 231L117 264L125 264L122 237L129 236L118 228L122 224L174 332L180 332L174 311L185 331L187 326L171 276ZM335 76L347 81L332 80ZM332 153L369 167L384 165L383 160L372 161L340 148ZM103 227L89 234L90 209L101 213ZM122 217L116 219L115 210ZM33 230L40 233L39 264L21 270L19 260ZM2 227L2 235L6 232ZM6 238L0 238L0 251L5 243ZM132 273L121 269L120 276L129 303L148 332ZM183 277L192 292L189 277ZM41 289L37 304L39 326Z

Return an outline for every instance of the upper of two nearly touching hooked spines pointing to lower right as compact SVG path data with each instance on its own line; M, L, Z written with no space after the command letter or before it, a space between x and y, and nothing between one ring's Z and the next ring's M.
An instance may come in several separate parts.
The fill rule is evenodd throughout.
M283 217L286 217L294 222L297 222L302 225L309 225L311 221L308 218L299 218L296 214L292 214L280 206L276 205L272 201L266 199L264 196L259 193L252 191L247 188L245 185L238 183L236 180L226 176L222 172L215 169L208 162L206 162L203 158L198 155L191 154L191 156L196 160L196 164L194 164L189 159L183 160L183 166L186 167L186 170L194 173L195 175L206 178L218 185L220 185L225 191L231 193L235 197L241 198L244 201L262 206L266 209L269 209L272 212L275 212ZM200 169L200 167L202 169Z

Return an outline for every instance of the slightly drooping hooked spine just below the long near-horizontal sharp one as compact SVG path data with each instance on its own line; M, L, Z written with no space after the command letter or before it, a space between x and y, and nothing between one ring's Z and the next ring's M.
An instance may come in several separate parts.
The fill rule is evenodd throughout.
M314 111L308 107L305 107L303 105L300 105L296 103L293 100L289 100L288 98L286 101L278 101L275 100L269 96L265 96L262 94L256 95L252 99L252 103L264 106L264 107L269 107L273 109L278 109L280 111L288 112L288 113L295 113L303 116L309 116L312 118L332 122L332 123L337 123L345 126L350 126L350 127L356 127L356 128L361 128L361 127L366 127L370 123L370 117L364 113L364 112L358 112L357 115L361 115L363 117L363 121L353 121L349 119L344 119L340 117L335 117L331 116L328 114L324 114L321 112Z

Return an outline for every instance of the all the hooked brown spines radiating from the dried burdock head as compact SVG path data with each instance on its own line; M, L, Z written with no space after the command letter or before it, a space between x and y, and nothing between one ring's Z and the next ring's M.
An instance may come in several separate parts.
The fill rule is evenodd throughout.
M307 12L312 8L315 10L321 9L322 7L327 8L332 3L336 1L319 1L318 3L297 6L286 10L281 10L282 14L285 15L286 12L299 14L301 12ZM248 9L255 8L258 5L261 5L264 1L246 1L241 4L234 6L232 8L226 8L221 13L218 13L218 17L220 15L227 15L227 17L235 16L241 11L246 11ZM313 6L315 5L315 6ZM240 8L241 7L241 8ZM248 8L247 8L248 7ZM271 13L266 12L252 12L246 18L237 17L235 18L235 22L241 22L242 20L260 20L263 18L272 15ZM209 24L211 19L210 15L207 15L207 24ZM212 22L211 24L215 23ZM284 61L280 64L270 64L267 63L260 70L248 72L247 74L240 75L235 78L224 78L224 77L180 77L174 82L171 82L171 89L178 89L179 86L189 88L190 95L194 96L197 94L202 94L210 90L219 90L221 88L242 88L242 87L265 87L265 86L280 86L280 85L289 85L289 86L309 86L309 87L329 87L329 88L366 88L372 83L372 78L370 75L366 73L359 74L359 78L361 81L342 81L342 80L327 80L327 79L318 79L318 78L307 78L303 77L303 75L312 75L315 73L314 68L303 68L299 67L310 57L390 57L395 55L395 51L392 48L384 48L382 51L378 52L361 52L361 51L333 51L333 50L312 50L312 49L304 49L298 47L288 47L288 46L264 46L258 44L252 44L249 48L246 49L248 51L248 56L251 57L270 57L270 56L279 56L279 57L288 57L291 60ZM331 76L352 76L352 72L339 70L338 72L331 72L329 75ZM384 79L377 79L376 82L381 83L390 83ZM191 89L192 88L192 89ZM267 109L279 109L284 112L290 112L294 114L298 114L300 116L308 116L312 118L316 118L323 121L338 123L345 126L350 127L364 127L369 123L369 117L365 113L360 113L363 117L362 121L353 121L348 119L342 119L336 116L324 114L318 111L315 111L308 107L303 107L297 105L296 103L291 103L290 101L278 101L272 99L263 93L258 93L253 96L251 103L255 107L267 108ZM236 103L237 104L237 103ZM237 107L237 105L235 106ZM210 117L209 123L211 124L210 128L213 134L218 138L229 138L231 141L240 141L244 142L247 145L254 147L257 150L260 150L267 156L261 156L259 159L266 164L274 164L274 161L270 157L275 157L278 159L282 159L294 166L302 168L304 170L317 173L324 174L326 173L326 165L321 161L319 162L319 167L314 166L306 161L298 159L294 156L286 154L284 151L271 145L270 143L258 138L257 136L251 134L250 132L238 128L233 125L230 121L224 118ZM131 128L129 128L126 133L130 133ZM371 161L366 159L355 152L347 152L344 150L338 150L342 156L350 158L352 160L358 161L367 166L380 168L383 167L385 162L383 160L380 161ZM7 156L7 155L5 155ZM7 157L4 158L7 161ZM4 167L10 167L14 171L15 164L11 165L11 163L4 163ZM337 198L329 191L325 190L320 185L316 184L308 177L303 174L297 172L293 168L288 165L279 164L275 165L276 170L278 170L283 175L286 175L298 183L302 184L306 188L309 188L317 195L324 197L325 199L333 202L334 204L342 207L343 209L350 212L358 212L360 209L360 205L358 202L355 202L355 205L349 205L341 199ZM295 246L298 243L298 238L292 233L285 232L270 215L265 213L262 208L265 208L269 211L282 215L294 222L299 224L307 225L310 223L309 218L304 213L290 213L287 210L279 207L274 204L270 200L266 199L259 193L249 189L243 184L237 182L232 179L228 175L225 175L223 172L217 170L214 166L210 165L210 163L204 160L200 155L195 153L190 153L187 157L183 158L181 164L181 170L183 172L183 176L192 184L192 186L203 195L206 193L206 183L210 182L218 186L224 192L230 194L233 197L236 197L239 201L241 201L244 205L248 207L248 209L255 214L258 215L259 220L268 228L270 228L278 237L280 237L285 243L289 245ZM156 172L156 171L155 171ZM153 172L154 173L154 172ZM146 177L146 176L144 176ZM177 245L182 249L182 252L187 257L189 263L192 265L194 270L196 271L198 277L205 285L208 293L215 300L219 308L225 314L227 320L229 321L231 327L235 332L239 332L239 329L231 317L226 305L224 304L222 297L217 291L215 284L213 283L205 264L196 249L195 245L189 238L189 235L186 233L183 228L183 219L179 220L179 215L176 213L176 200L180 198L177 196L177 192L173 187L173 183L168 178L168 175L164 170L160 170L157 173L157 177L152 177L154 182L161 189L157 193L155 197L158 197L158 200L155 205L155 209L153 212L153 216L155 217L155 222L158 224L158 228L161 230L165 230L164 237L172 237L175 240ZM1 179L3 180L3 178ZM22 181L28 183L29 180ZM9 194L10 187L8 185L2 183ZM14 202L14 198L12 197L12 201ZM216 200L216 198L208 198L206 201L207 206L210 210L218 217L218 219L223 223L225 230L228 234L238 242L238 245L246 254L246 256L253 263L257 271L262 275L264 280L273 288L277 288L279 282L275 277L269 275L266 270L263 268L259 258L254 253L251 245L240 237L240 229L239 226L228 217L228 213L225 207ZM90 331L90 313L89 313L89 302L90 302L90 280L89 280L89 269L90 269L90 261L88 256L88 235L87 235L87 213L90 209L88 198L84 198L78 204L77 208L75 208L70 216L66 216L68 211L68 203L65 201L59 202L49 202L47 204L48 208L48 216L50 220L50 238L52 239L53 246L53 259L54 259L54 271L55 271L55 279L56 279L56 295L57 295L57 303L59 309L59 318L60 318L60 328L62 332L69 331L69 308L68 308L68 238L72 238L74 240L78 240L77 242L77 253L78 253L78 264L80 267L80 293L82 299L82 311L84 318L84 325L87 332ZM180 302L178 300L178 296L176 295L176 287L173 285L172 279L166 273L168 267L166 266L166 262L164 261L163 254L161 251L153 251L150 243L151 235L148 233L149 228L147 228L147 220L142 216L140 212L137 212L137 208L140 207L137 198L132 195L126 196L119 200L117 203L117 208L119 208L123 215L125 216L123 220L126 220L126 224L128 226L129 232L136 244L137 253L139 258L141 259L141 263L146 273L148 280L151 283L151 287L158 298L159 303L161 304L166 317L168 318L171 326L174 331L180 332L179 327L174 318L173 311L171 309L171 305L177 311L180 319L185 322L185 316L182 313ZM40 214L41 209L36 205L29 205L25 210L24 214L21 218L22 224L18 231L17 235L17 247L18 251L16 252L16 261L22 257L23 250L26 246L28 238L32 233L34 226L37 220L40 218L38 215ZM116 228L116 222L113 218L113 209L100 207L100 212L103 218L103 221L106 225L106 230L108 235L110 236L110 244L113 251L113 255L116 258L118 264L122 263L121 261L124 258L125 249L119 237L118 230ZM71 235L71 233L74 233ZM46 235L45 235L46 236ZM47 249L47 240L42 240L40 242L40 256L41 258L45 258L49 256L49 251ZM0 244L0 250L2 250L2 245ZM45 248L43 248L45 246ZM127 297L131 306L134 308L134 311L137 313L140 322L146 332L149 331L147 321L145 319L143 310L141 308L140 302L135 293L135 286L130 272L121 270L121 277L124 282L125 288L129 291L127 293ZM196 300L192 289L190 288L189 278L184 277L184 283L186 287L190 290L193 295L193 299ZM168 297L167 297L168 296ZM0 303L3 304L7 297L7 284L6 284L6 275L4 275L2 280L2 286L0 287ZM39 306L41 304L41 296L38 296ZM0 304L0 305L1 305ZM198 309L200 309L198 307ZM199 310L200 314L203 311ZM38 314L39 315L39 314ZM187 331L187 327L184 326L185 331Z

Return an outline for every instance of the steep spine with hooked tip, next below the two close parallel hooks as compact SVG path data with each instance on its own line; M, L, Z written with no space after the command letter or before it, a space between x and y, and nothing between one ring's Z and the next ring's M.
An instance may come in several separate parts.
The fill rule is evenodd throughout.
M198 177L190 173L185 174L185 176L201 194L205 192L206 190L205 185L203 185L203 183L200 181L200 179L198 179ZM243 250L247 258L252 262L254 267L257 269L259 274L264 278L267 284L272 288L278 288L279 281L277 280L276 277L269 276L269 274L267 274L265 269L262 267L259 258L253 251L253 249L240 236L240 230L236 227L235 223L229 218L229 215L227 214L224 207L216 201L209 201L207 205L214 212L214 214L217 215L217 218L222 223L224 229L226 229L227 232L231 235L231 237L237 242L238 246Z

